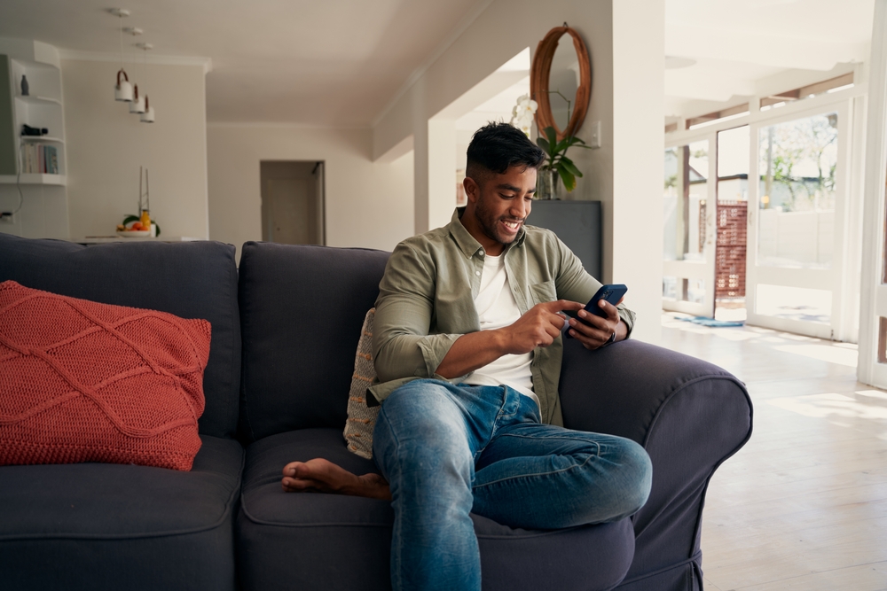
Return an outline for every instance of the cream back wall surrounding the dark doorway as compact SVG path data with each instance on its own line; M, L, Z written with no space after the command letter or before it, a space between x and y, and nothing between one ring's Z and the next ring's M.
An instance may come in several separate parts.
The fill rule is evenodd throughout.
M209 124L209 237L262 239L262 160L326 163L326 245L393 250L412 236L412 152L370 158L370 129ZM239 256L239 254L238 254Z

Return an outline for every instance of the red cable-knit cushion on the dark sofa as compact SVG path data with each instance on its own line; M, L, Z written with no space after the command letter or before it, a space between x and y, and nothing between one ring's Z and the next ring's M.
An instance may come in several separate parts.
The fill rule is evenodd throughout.
M0 465L191 470L210 326L0 283Z

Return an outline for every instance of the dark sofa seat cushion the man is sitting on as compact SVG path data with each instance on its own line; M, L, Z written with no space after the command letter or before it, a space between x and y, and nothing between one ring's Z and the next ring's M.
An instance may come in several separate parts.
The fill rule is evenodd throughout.
M246 591L390 589L389 502L284 493L284 465L312 457L357 474L377 471L348 451L339 429L281 433L248 447L237 522L240 584ZM632 562L630 519L543 532L472 518L484 589L609 589Z

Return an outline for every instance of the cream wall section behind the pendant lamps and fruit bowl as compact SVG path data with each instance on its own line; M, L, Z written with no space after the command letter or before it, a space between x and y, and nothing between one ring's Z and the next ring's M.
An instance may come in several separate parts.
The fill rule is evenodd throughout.
M151 181L151 216L167 237L207 238L203 66L128 65L157 113L140 123L114 101L119 63L63 59L68 211L72 237L107 236L136 214L138 167ZM146 74L143 74L146 69Z

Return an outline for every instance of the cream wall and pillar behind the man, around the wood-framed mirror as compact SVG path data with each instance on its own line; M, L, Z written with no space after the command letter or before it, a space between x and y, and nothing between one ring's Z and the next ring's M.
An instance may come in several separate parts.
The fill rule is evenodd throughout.
M493 0L455 43L443 51L373 128L373 158L412 136L414 163L413 231L440 225L437 203L452 191L436 191L436 167L429 145L450 134L428 121L482 82L527 45L535 52L552 27L566 21L585 39L592 61L592 96L577 136L590 139L601 121L599 150L569 152L585 176L569 197L600 200L604 216L601 280L629 285L626 304L639 314L634 336L658 343L662 309L662 178L664 98L663 0ZM451 169L447 174L452 177ZM450 183L451 184L451 183ZM438 197L441 196L441 197Z

